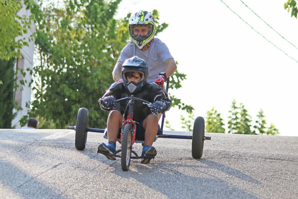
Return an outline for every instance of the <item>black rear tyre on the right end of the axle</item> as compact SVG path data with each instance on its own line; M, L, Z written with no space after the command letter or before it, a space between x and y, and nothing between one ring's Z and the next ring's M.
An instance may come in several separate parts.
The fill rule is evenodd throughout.
M193 124L193 141L191 148L191 155L193 158L201 158L204 148L204 135L205 135L205 121L202 117L195 118Z

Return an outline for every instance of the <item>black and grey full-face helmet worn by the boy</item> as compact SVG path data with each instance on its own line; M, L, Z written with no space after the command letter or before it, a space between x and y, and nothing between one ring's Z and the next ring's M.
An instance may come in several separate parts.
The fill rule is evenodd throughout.
M133 81L127 82L125 77L126 72L140 72L142 74L142 78L138 83L134 83ZM130 93L134 93L140 90L147 83L149 77L149 69L144 59L139 58L138 56L134 56L132 58L127 59L122 65L122 79L123 84L126 90Z

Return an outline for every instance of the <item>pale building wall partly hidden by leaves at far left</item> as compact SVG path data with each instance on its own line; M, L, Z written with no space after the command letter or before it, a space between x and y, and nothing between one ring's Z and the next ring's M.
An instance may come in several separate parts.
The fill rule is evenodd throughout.
M36 0L34 0L36 3ZM26 5L23 4L22 9L20 10L20 12L18 13L19 16L30 16L30 10L26 10ZM31 28L30 30L28 30L28 33L16 38L20 39L20 38L29 38L32 33L35 33L35 24L32 21L31 23ZM28 40L27 40L28 41ZM30 71L27 71L27 69L29 68L30 70L32 70L33 68L33 54L34 54L34 41L30 41L28 42L29 46L25 46L23 47L23 49L21 50L21 55L22 58L18 58L16 63L15 63L15 68L16 67L21 67L23 68L24 72L26 72L25 77L23 77L22 75L18 75L18 80L20 81L21 79L24 79L27 81L27 83L25 83L24 86L20 85L20 87L22 86L23 90L20 90L20 88L18 88L15 91L15 100L19 103L19 105L22 107L23 110L19 111L17 116L15 117L15 119L12 121L12 127L15 128L21 128L20 126L20 119L24 116L27 115L28 109L26 107L26 103L30 101L31 98L31 87L29 86L31 80L32 80L32 75L30 75ZM14 110L15 112L15 110Z

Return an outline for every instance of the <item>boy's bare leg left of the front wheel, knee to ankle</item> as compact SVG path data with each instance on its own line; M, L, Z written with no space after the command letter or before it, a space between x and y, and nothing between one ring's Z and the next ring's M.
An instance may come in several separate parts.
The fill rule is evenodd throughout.
M119 129L122 126L123 115L119 111L111 111L108 117L107 129L108 129L108 142L117 141Z

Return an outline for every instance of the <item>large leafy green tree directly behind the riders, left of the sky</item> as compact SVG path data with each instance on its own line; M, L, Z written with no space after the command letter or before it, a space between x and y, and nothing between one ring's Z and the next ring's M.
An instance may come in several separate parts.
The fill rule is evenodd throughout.
M40 7L26 1L37 24L36 46L40 63L33 68L30 116L39 117L40 128L67 128L75 124L80 107L89 110L89 126L104 127L108 112L97 104L113 83L112 70L120 51L128 42L128 18L116 20L120 1L65 1ZM158 34L167 24L159 24ZM181 87L185 75L178 71L170 78L170 88ZM173 106L193 108L171 97ZM25 122L23 118L23 123Z

